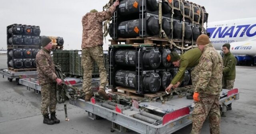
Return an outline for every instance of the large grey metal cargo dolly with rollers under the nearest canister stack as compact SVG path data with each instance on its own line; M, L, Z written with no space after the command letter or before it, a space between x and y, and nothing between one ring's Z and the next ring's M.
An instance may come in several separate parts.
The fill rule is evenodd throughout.
M115 95L113 93L113 95ZM223 89L220 94L219 104L222 112L226 112L226 105L239 99L238 89ZM164 104L156 102L137 102L120 104L114 102L100 102L92 97L90 102L83 99L69 101L88 112L92 120L98 116L112 122L111 132L122 132L130 129L140 134L171 134L192 123L193 100L186 97L174 96Z

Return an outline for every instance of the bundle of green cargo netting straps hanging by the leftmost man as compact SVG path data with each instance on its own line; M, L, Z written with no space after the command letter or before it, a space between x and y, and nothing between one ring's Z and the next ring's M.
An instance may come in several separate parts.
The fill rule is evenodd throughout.
M55 65L55 73L59 79L64 82L65 75L62 73L62 69L60 65ZM68 114L67 114L67 99L72 101L84 97L84 93L81 93L81 89L78 87L72 86L69 81L68 84L62 83L61 85L56 84L56 97L58 103L64 103L64 110L65 110L65 120L69 121Z

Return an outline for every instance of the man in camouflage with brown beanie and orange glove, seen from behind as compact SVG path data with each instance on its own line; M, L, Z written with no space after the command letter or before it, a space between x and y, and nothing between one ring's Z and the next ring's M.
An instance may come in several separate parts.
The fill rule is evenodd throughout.
M207 35L200 35L196 42L203 53L198 64L199 78L193 95L195 105L190 134L201 133L207 115L209 115L210 134L220 134L219 100L222 89L222 57L214 49Z

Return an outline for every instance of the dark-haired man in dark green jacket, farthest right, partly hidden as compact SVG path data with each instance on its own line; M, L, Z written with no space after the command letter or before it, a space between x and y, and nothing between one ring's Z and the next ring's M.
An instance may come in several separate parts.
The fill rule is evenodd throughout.
M233 89L236 79L236 58L230 53L230 44L225 43L222 45L223 57L223 76L222 76L222 89ZM232 110L232 103L228 104L227 110ZM226 117L222 113L223 117Z

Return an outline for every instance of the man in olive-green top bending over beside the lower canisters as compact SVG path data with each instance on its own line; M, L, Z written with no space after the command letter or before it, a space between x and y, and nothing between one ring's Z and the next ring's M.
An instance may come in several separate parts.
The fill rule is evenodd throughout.
M175 67L179 67L178 73L175 75L175 77L172 79L171 84L165 89L165 91L170 91L172 87L176 88L180 85L182 82L184 75L185 75L185 70L188 68L194 67L192 69L191 73L191 79L192 79L192 84L197 82L197 75L196 73L198 72L198 63L199 59L202 55L202 51L198 48L193 48L186 53L182 54L181 56L178 55L176 52L171 53L171 62ZM194 86L193 86L194 87ZM194 88L193 88L194 89ZM194 93L194 90L190 91L190 93ZM187 99L193 99L193 95L188 95Z

